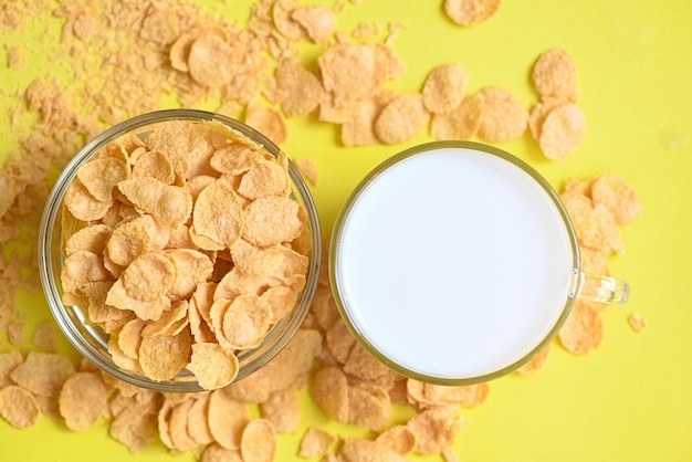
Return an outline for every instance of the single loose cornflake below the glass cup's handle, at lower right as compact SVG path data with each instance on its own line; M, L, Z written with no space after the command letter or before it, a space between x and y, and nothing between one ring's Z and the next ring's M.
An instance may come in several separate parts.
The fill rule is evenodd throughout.
M577 355L591 353L604 339L604 321L595 302L575 301L572 313L558 333L560 344Z

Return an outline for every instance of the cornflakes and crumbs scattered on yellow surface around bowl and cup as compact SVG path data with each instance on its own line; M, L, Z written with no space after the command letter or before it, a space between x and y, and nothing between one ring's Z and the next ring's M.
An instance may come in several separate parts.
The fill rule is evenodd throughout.
M20 31L54 8L51 1L29 3L3 1L0 25ZM19 147L0 170L0 330L11 344L0 347L4 420L29 428L43 413L81 431L103 418L109 420L111 435L132 452L159 438L171 453L192 451L201 461L271 461L276 433L298 427L296 392L307 387L328 418L371 430L371 438L311 428L297 449L301 456L396 461L418 453L457 460L450 445L464 426L460 411L481 405L487 384L441 387L396 375L355 342L324 276L302 329L280 357L213 391L165 395L118 381L87 361L75 365L55 353L50 323L36 326L33 345L23 342L15 298L19 287L39 290L36 229L51 179L87 140L134 115L170 106L208 108L243 118L277 144L289 136L286 118L314 116L337 124L346 146L399 144L427 127L437 139L478 136L490 143L517 139L528 128L551 159L579 145L586 122L577 105L576 65L566 51L549 50L534 63L541 101L531 111L504 88L466 94L468 75L455 63L431 70L419 91L398 93L386 83L406 66L389 45L405 27L389 24L385 39L376 39L381 35L376 24L338 31L337 14L357 8L353 4L259 0L239 25L192 1L59 2L53 14L64 23L52 60L71 63L74 83L48 74L18 92L10 119ZM448 0L444 10L468 27L491 18L500 4ZM321 50L314 70L303 63L303 43ZM21 72L23 49L8 44L6 51L9 72ZM316 182L314 162L296 160ZM619 227L640 211L637 193L621 177L606 175L568 182L563 199L584 249L584 269L607 274L607 258L623 250ZM562 345L575 354L598 347L604 308L578 302L559 334ZM646 326L637 316L630 323L637 330ZM548 354L520 372L535 372ZM259 417L251 417L250 403L259 405ZM416 412L391 422L395 405Z

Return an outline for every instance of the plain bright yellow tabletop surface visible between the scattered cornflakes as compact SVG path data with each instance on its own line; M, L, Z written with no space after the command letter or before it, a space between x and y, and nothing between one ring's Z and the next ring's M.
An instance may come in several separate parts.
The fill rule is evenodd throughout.
M249 3L231 0L222 9L243 18ZM463 411L468 426L454 451L469 462L692 460L692 309L685 292L692 261L692 2L506 0L495 18L472 29L445 19L441 3L364 0L346 4L338 29L349 31L360 21L382 29L389 22L406 24L394 48L408 70L391 87L419 91L434 65L455 62L468 72L470 91L501 85L527 106L537 99L528 77L536 56L549 48L569 50L588 120L578 151L549 162L528 135L501 147L531 162L556 187L568 177L618 172L637 188L644 206L641 217L622 230L627 253L610 261L611 272L628 280L633 292L628 305L605 314L602 346L586 357L556 347L536 376L491 384L487 401ZM0 32L0 43L3 36ZM43 75L50 59L36 49L30 30L7 40L27 46L21 77L0 70L0 87L12 92L22 81ZM4 108L10 98L0 96L0 102ZM13 145L8 120L4 111L2 156ZM319 167L322 181L313 192L326 230L368 170L430 139L421 134L400 146L344 148L336 143L337 128L314 118L291 120L290 128L284 149L292 157L312 157ZM49 318L40 295L22 294L21 302L31 319ZM644 332L629 327L631 312L647 321ZM277 460L298 460L297 444L307 427L368 434L327 423L306 393L303 398L301 431L280 438ZM399 410L392 422L409 413ZM3 461L174 460L159 443L130 456L108 438L105 422L74 433L46 418L23 431L0 421L0 441Z

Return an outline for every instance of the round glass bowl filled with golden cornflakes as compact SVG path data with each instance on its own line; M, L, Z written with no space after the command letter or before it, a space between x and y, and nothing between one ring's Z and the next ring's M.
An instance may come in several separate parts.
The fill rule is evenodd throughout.
M39 238L64 335L159 391L222 388L274 358L310 308L321 258L315 203L286 155L192 109L134 117L85 146Z

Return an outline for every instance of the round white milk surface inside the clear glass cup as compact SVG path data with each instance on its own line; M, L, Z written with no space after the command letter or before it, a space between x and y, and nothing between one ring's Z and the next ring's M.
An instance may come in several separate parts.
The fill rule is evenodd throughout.
M466 148L413 155L353 204L335 277L355 328L385 357L439 378L513 365L554 327L573 251L546 191Z

